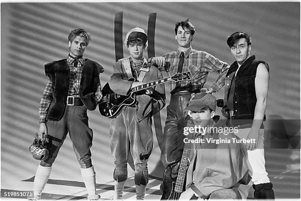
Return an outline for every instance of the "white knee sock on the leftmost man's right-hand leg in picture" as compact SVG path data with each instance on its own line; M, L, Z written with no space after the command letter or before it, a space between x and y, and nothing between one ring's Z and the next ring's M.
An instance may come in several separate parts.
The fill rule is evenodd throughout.
M96 194L96 180L93 166L90 168L81 168L82 177L89 196Z

